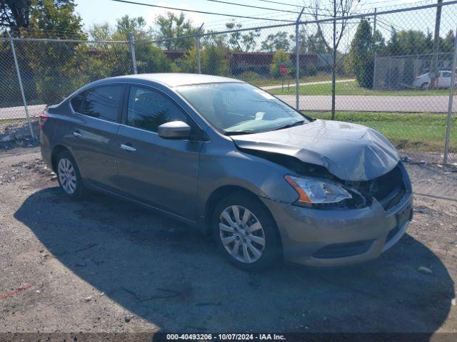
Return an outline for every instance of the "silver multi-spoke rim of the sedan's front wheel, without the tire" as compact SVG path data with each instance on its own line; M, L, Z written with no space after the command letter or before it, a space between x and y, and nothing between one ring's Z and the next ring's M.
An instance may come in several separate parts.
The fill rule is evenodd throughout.
M244 264L258 261L265 249L265 232L261 222L249 209L240 205L231 205L221 212L219 237L231 257Z

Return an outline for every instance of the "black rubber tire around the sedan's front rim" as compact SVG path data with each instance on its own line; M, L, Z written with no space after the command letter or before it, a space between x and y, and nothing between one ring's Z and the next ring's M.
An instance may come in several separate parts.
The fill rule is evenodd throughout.
M224 232L221 233L221 230L219 229L219 224L222 222L221 214L225 209L228 209L231 206L240 206L248 209L251 214L253 214L252 222L258 221L261 224L261 229L263 229L264 247L261 251L261 257L259 257L256 261L250 263L239 261L228 252L222 243L221 234L224 234ZM241 209L241 211L243 211L243 209ZM247 225L245 227L247 227ZM213 217L211 219L211 229L219 251L224 255L224 257L226 257L226 259L240 269L245 271L261 271L273 267L282 259L281 237L279 235L278 228L276 227L276 222L265 205L256 196L251 195L248 192L234 192L233 194L221 199L214 208ZM244 234L254 234L254 232ZM244 235L244 237L248 238L248 235ZM238 237L238 239L239 238L240 237ZM256 247L261 247L260 244L256 244L253 240L251 241L248 239L248 241L251 246L255 244ZM236 241L233 242L233 246L235 243ZM243 245L238 242L238 247L239 246L241 246L241 250L243 250ZM251 254L253 259L255 259L251 250L249 250L248 254ZM241 257L241 255L238 255L238 257Z

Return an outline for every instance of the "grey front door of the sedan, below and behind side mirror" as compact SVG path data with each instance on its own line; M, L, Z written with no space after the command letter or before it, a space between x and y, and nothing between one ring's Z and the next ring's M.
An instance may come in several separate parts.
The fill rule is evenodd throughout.
M156 88L130 86L124 125L117 137L119 188L159 209L196 221L199 151L203 142L168 140L157 128L170 121L200 128L173 99Z

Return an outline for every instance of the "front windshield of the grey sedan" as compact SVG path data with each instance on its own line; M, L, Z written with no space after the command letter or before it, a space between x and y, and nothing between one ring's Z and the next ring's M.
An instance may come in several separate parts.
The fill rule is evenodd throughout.
M247 83L196 84L176 90L227 135L266 132L309 122L266 91Z

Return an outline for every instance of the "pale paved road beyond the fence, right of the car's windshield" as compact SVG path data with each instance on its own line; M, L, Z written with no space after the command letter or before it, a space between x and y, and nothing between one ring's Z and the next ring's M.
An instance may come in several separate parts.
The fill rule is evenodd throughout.
M295 95L278 95L295 107ZM447 113L448 96L336 95L336 110L366 112ZM301 110L331 110L331 95L301 95ZM453 112L457 110L454 97Z

